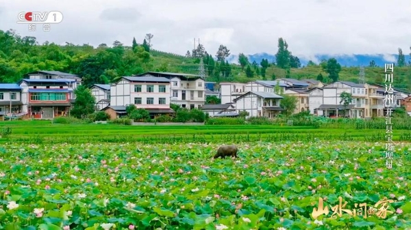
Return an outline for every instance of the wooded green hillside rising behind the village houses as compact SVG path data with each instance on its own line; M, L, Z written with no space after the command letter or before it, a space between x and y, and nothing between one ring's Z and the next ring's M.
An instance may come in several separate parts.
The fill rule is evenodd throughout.
M58 70L78 74L83 77L86 85L110 83L120 76L148 71L199 74L199 59L156 51L139 44L123 46L121 42L115 41L111 47L100 44L97 48L88 44L38 44L34 37L21 38L15 31L1 30L0 44L4 44L0 46L1 83L16 83L23 74L36 70ZM208 75L206 81L247 82L263 79L261 74L258 74L261 70L259 66L253 67L253 77L247 77L245 70L235 63L219 64L214 59L210 60L210 57L206 58L205 63ZM359 72L358 67L343 67L340 80L357 82ZM285 70L270 64L266 69L265 78L282 78L286 77L286 74ZM327 80L327 74L319 65L292 68L289 77L316 79L319 74ZM365 76L369 83L382 83L384 67L365 68ZM394 81L396 87L411 90L411 66L395 68Z

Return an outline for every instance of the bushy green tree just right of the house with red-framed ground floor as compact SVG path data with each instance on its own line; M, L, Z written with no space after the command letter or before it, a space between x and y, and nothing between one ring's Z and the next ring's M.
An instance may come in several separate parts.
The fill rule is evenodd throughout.
M92 96L91 90L84 85L79 85L75 91L75 102L70 113L74 117L84 118L95 112L95 97Z

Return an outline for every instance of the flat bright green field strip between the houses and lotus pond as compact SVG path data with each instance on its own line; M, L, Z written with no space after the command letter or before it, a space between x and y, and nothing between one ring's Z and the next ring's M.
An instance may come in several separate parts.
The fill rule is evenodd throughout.
M339 127L338 127L339 126ZM353 124L314 126L205 125L122 126L52 124L52 121L4 121L12 134L0 143L240 143L250 141L384 141L383 129L356 129ZM395 141L411 140L410 130L395 130Z

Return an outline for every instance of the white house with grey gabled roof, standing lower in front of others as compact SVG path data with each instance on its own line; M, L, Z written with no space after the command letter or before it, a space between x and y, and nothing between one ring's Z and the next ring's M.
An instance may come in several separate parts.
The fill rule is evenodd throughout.
M236 102L236 111L246 111L247 117L276 117L281 111L279 106L282 96L269 92L249 91L242 96L234 99Z

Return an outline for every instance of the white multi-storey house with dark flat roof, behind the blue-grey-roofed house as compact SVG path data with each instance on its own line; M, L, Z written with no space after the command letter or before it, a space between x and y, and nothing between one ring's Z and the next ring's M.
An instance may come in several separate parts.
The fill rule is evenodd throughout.
M164 77L170 80L171 103L186 109L200 109L206 103L206 82L199 75L146 72L135 76Z

